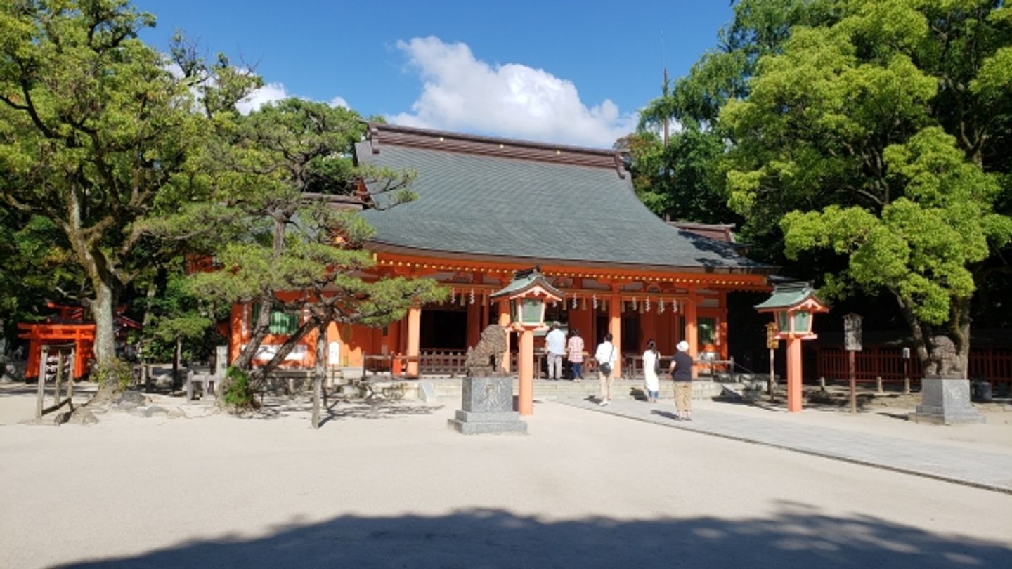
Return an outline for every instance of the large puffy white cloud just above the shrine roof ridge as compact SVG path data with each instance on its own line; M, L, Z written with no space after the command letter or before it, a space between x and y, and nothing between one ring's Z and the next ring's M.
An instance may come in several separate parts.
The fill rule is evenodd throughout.
M388 116L396 125L610 147L631 133L637 118L605 99L588 107L576 85L520 64L489 65L465 44L435 36L398 42L424 81L412 112Z

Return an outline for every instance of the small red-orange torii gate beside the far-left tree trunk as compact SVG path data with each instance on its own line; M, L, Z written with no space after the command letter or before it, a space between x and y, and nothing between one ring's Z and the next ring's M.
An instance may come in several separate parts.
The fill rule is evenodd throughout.
M38 359L41 357L44 344L74 342L75 357L71 374L75 380L81 378L88 373L88 362L95 358L95 325L84 322L84 309L81 307L54 303L47 306L56 310L58 316L47 318L45 323L17 325L17 337L28 340L28 361L24 376L38 376ZM123 310L116 311L117 329L140 329L140 324L122 315Z

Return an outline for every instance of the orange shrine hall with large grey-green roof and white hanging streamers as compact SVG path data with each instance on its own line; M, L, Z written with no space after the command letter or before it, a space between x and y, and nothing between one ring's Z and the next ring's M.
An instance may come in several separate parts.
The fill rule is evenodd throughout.
M514 271L533 266L564 294L547 307L546 321L579 329L591 353L610 332L630 357L654 338L665 355L685 339L693 357L726 360L728 293L771 290L767 277L776 267L746 258L729 239L707 236L707 226L673 226L650 212L632 189L625 157L614 150L373 124L355 146L355 160L417 173L410 187L416 200L361 212L375 229L365 247L376 264L364 276L430 277L451 295L413 307L384 328L331 324L331 367L402 354L408 376L462 372L463 353L481 331L508 323L507 307L490 295ZM708 229L730 235L724 226ZM252 312L233 309L230 359L249 338ZM272 315L262 357L302 317L301 311ZM315 365L315 345L314 332L286 365ZM515 357L515 340L511 348Z

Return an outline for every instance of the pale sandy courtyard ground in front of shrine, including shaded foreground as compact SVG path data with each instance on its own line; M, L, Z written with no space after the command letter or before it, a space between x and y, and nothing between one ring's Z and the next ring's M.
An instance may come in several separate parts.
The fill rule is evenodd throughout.
M34 426L30 395L0 389L0 567L1012 563L1012 495L559 403L527 435L463 436L453 403L338 403L314 430L305 400L261 418L167 402L187 417ZM851 426L1012 453L1009 416Z

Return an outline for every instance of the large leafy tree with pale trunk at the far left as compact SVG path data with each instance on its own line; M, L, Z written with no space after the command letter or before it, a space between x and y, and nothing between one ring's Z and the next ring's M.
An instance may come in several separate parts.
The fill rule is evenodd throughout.
M231 80L243 74L223 60L197 112L193 88L208 76L173 73L137 37L153 24L128 0L0 4L0 199L66 236L90 286L100 368L115 360L120 295L157 255L144 220L178 196L166 189L216 114L256 85Z

